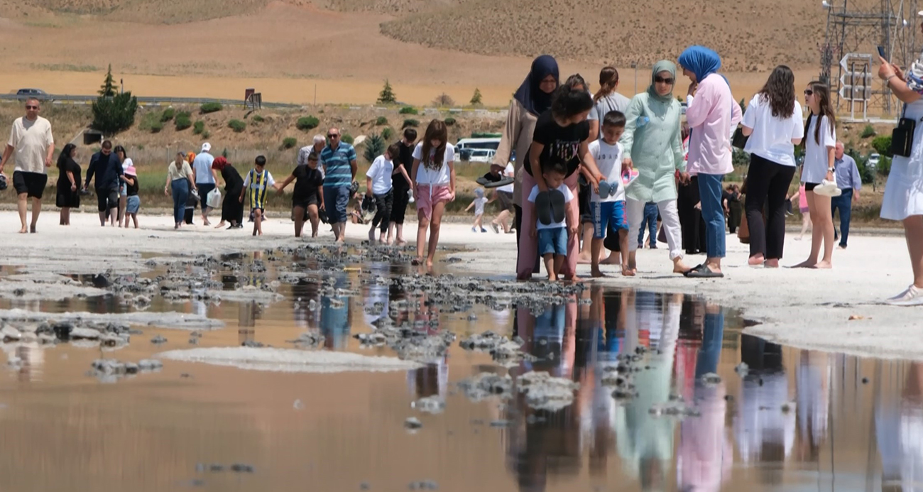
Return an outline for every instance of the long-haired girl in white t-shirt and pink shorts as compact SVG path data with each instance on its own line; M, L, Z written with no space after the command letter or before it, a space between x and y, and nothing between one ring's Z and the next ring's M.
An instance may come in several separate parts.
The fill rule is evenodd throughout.
M446 211L446 203L455 199L455 147L449 143L449 128L444 122L433 120L426 126L423 141L414 149L414 168L410 175L419 221L413 264L423 262L426 229L432 228L426 252L426 266L432 267L442 214Z

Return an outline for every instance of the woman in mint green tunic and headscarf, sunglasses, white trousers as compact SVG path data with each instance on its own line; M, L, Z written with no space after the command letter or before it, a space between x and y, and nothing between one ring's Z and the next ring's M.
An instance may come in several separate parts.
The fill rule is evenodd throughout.
M683 263L682 232L677 213L676 173L688 180L679 121L681 107L673 97L677 66L662 60L654 64L651 86L636 95L627 113L628 120L621 144L625 163L638 171L638 177L625 188L629 237L638 237L644 204L654 202L663 220L666 244L670 248L673 271L689 270ZM637 241L629 241L629 269L637 270Z

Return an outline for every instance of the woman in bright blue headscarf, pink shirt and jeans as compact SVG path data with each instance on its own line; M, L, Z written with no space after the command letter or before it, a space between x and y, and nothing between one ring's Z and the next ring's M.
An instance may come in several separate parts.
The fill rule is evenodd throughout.
M740 105L734 101L727 79L716 72L721 58L703 46L691 46L679 55L683 75L691 80L686 120L689 122L689 174L699 176L701 216L705 220L705 263L687 272L693 278L718 278L725 258L725 210L721 182L734 170L731 133L740 123ZM693 97L693 94L695 97Z

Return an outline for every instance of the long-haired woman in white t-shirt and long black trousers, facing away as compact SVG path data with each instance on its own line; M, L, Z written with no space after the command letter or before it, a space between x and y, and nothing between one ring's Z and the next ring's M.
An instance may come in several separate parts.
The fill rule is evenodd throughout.
M741 121L743 134L749 136L744 150L750 154L745 203L750 265L779 267L785 246L785 195L795 177L795 146L804 137L803 121L795 74L787 66L776 66Z

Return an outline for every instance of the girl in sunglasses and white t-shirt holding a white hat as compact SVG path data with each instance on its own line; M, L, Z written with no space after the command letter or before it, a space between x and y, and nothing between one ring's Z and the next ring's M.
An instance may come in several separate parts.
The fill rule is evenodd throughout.
M824 182L834 182L833 159L836 149L836 116L830 103L830 90L825 84L814 81L805 90L805 104L810 109L805 131L805 163L801 182L805 184L811 232L810 256L795 268L829 269L833 267L833 210L829 195L814 192ZM835 185L833 186L835 188ZM823 258L818 261L823 243Z

